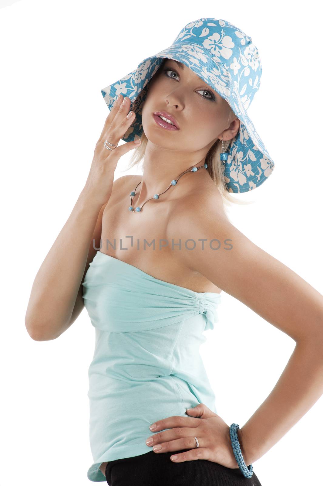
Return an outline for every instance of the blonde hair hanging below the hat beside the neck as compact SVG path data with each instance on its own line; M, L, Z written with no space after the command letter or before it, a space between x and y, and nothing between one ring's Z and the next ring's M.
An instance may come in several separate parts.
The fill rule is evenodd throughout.
M229 124L231 123L231 121L233 121L236 118L236 114L234 113L234 111L232 110L229 104L228 106L229 106L229 115L228 115L227 123ZM139 145L139 147L136 147L132 152L129 160L129 165L127 169L125 169L126 171L138 165L141 161L144 161L143 159L145 157L145 150L148 141L144 131L140 139L141 139L141 144ZM230 143L231 143L231 139L223 141L224 152L226 152ZM218 188L224 204L226 204L226 206L230 206L231 203L242 204L242 205L251 204L252 203L251 201L248 202L248 201L241 201L239 199L236 199L227 190L224 174L221 168L221 160L220 160L221 152L222 152L222 140L217 139L212 145L212 147L210 148L209 152L207 153L205 157L205 163L208 164L207 171L209 172L212 180L214 181L216 187Z

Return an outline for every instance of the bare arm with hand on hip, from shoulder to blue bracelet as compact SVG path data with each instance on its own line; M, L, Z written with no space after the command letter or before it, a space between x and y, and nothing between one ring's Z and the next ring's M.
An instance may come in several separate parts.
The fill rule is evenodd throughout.
M199 211L195 215L192 211L174 223L179 237L196 242L205 238L207 242L204 250L196 245L196 251L184 249L179 257L296 342L274 389L238 431L249 465L273 447L323 394L323 296L252 243L221 213ZM210 249L214 238L221 242L220 250ZM228 244L232 248L226 250Z

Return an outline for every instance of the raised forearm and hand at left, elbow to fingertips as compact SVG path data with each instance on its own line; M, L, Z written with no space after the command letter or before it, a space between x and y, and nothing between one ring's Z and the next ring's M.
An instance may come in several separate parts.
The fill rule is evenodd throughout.
M117 146L135 120L133 112L126 117L129 103L126 98L123 104L122 96L114 103L97 141L85 186L34 279L25 325L35 341L56 339L84 306L81 284L97 251L93 239L95 246L100 246L102 213L115 187L114 171L119 158L136 146L134 141ZM106 139L116 146L113 150L106 149Z

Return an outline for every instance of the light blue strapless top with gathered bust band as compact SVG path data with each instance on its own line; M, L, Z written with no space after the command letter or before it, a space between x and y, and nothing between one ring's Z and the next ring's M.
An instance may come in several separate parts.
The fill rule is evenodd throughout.
M149 425L205 403L213 412L200 345L218 321L221 295L159 280L97 251L83 281L96 330L89 366L90 481L102 462L152 451Z

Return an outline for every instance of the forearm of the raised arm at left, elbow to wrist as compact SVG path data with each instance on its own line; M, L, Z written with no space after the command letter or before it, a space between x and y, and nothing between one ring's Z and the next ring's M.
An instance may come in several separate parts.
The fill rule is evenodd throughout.
M84 305L81 283L96 254L93 239L99 247L105 206L91 202L82 191L41 264L25 316L26 329L32 339L57 338L80 314Z

